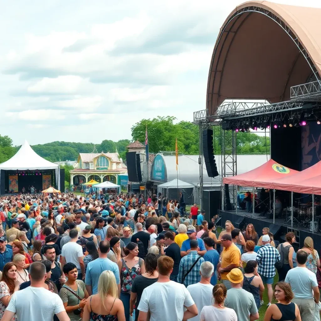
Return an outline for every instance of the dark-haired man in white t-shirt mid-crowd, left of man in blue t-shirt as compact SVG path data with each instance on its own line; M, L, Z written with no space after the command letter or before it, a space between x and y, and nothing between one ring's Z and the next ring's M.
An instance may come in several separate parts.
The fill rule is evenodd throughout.
M78 231L72 229L69 231L70 241L62 247L60 263L61 268L64 268L66 263L74 263L78 270L78 279L82 280L82 276L85 275L85 266L83 264L83 252L82 247L76 243L78 239Z

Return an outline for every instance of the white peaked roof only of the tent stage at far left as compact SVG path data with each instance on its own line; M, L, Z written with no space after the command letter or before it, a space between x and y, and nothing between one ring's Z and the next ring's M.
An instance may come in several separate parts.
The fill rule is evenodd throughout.
M58 169L59 165L45 160L39 156L25 141L9 160L0 164L4 170L36 170L36 169Z

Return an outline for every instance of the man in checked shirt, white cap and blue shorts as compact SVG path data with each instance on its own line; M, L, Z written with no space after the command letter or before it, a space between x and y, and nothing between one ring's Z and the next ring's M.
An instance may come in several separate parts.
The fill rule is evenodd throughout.
M263 235L262 243L264 246L257 251L256 262L258 264L257 272L260 274L263 283L267 285L267 296L271 305L273 297L272 284L274 281L275 267L274 264L281 260L279 251L270 244L270 237ZM264 302L261 301L261 304Z

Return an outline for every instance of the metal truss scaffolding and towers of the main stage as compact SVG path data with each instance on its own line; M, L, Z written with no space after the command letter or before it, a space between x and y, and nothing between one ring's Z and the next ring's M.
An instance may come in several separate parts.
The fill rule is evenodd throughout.
M256 8L257 9L257 8ZM255 9L254 9L255 10ZM274 17L275 18L275 17ZM295 39L294 39L295 41ZM302 51L301 51L302 52ZM307 59L308 57L306 57ZM308 60L308 59L307 59ZM312 68L313 70L313 68ZM202 131L216 126L221 133L221 176L237 175L237 133L235 129L230 130L228 124L242 118L255 118L258 122L264 122L269 115L281 114L287 117L299 117L303 111L309 109L321 110L321 81L308 82L291 87L291 100L269 104L262 101L231 101L222 103L217 109L216 115L210 115L208 109L194 112L193 123L199 126L199 179L202 207L203 191L203 142ZM258 126L259 127L259 126ZM231 132L231 135L227 133ZM221 183L223 185L223 183ZM236 186L229 189L232 204L236 204ZM225 188L222 188L222 209L226 208ZM293 194L293 193L292 193ZM274 212L274 211L273 211ZM292 222L291 222L292 223ZM292 223L293 224L293 223Z

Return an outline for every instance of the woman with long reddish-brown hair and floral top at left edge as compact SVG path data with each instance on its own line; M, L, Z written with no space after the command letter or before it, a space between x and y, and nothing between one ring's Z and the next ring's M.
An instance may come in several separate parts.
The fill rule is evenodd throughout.
M14 292L19 290L17 280L17 267L12 263L6 263L2 271L2 281L0 282L0 319L4 314ZM13 318L16 320L16 317Z

